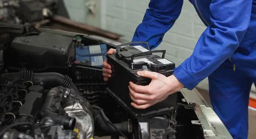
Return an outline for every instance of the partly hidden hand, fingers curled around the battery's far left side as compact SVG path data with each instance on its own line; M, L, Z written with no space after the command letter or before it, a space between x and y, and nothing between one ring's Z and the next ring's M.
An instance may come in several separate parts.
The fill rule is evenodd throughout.
M116 52L116 49L109 49L109 51L107 52L107 54L114 54ZM112 71L111 71L111 65L108 64L107 59L104 60L103 62L103 77L104 77L104 81L108 82L108 78L111 77Z

